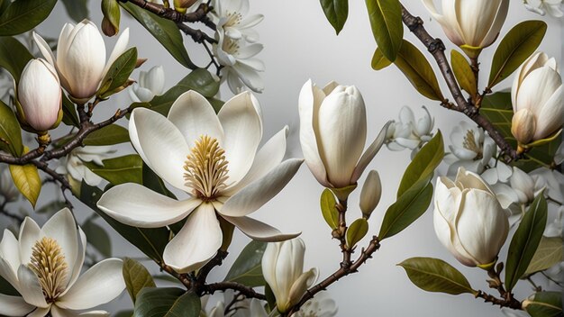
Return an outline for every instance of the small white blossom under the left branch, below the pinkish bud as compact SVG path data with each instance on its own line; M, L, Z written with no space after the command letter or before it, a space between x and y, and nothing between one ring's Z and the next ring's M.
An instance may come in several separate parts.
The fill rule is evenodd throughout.
M86 146L73 149L66 157L59 159L60 165L55 171L70 175L79 182L84 179L89 186L98 186L102 182L102 177L97 176L84 163L93 162L103 167L103 160L110 158L114 153L112 146Z

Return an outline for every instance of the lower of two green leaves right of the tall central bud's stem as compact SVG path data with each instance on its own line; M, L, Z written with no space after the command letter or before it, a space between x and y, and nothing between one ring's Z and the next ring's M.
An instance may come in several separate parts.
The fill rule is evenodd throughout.
M432 185L429 178L417 181L396 203L387 208L378 237L389 238L407 228L425 213L432 199Z

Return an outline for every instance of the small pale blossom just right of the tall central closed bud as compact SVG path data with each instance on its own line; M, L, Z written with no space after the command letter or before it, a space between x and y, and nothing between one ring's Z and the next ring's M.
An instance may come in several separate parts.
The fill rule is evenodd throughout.
M423 105L423 117L415 121L413 110L403 106L399 112L399 122L392 122L387 131L386 145L391 150L419 149L424 142L432 139L434 118Z

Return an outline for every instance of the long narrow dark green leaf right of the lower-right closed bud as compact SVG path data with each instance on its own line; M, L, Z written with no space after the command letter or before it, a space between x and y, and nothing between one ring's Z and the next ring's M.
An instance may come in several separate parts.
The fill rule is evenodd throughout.
M542 232L546 227L547 208L542 193L537 195L514 233L505 261L507 292L511 292L519 278L523 276L539 247Z

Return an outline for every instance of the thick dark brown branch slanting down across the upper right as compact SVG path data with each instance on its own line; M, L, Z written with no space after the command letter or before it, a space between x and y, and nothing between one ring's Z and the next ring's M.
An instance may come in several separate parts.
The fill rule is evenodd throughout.
M489 122L486 117L479 113L477 106L468 103L468 101L464 98L464 95L462 95L462 91L460 90L456 78L452 73L452 69L450 68L449 61L444 54L445 47L441 39L433 38L423 27L423 20L420 17L415 17L414 15L410 14L403 5L402 20L404 21L404 24L405 26L407 26L409 31L414 33L417 39L419 39L419 41L423 43L427 50L429 50L429 52L432 54L432 57L437 62L437 65L441 69L442 77L449 87L450 95L452 95L454 101L456 102L456 106L448 108L466 114L468 118L476 122L484 130L486 130L489 136L494 141L496 141L497 146L499 146L499 148L505 154L506 162L519 159L519 154L517 153L517 151L513 149L512 146L501 135L501 133L497 131L496 127L494 127L494 125Z

